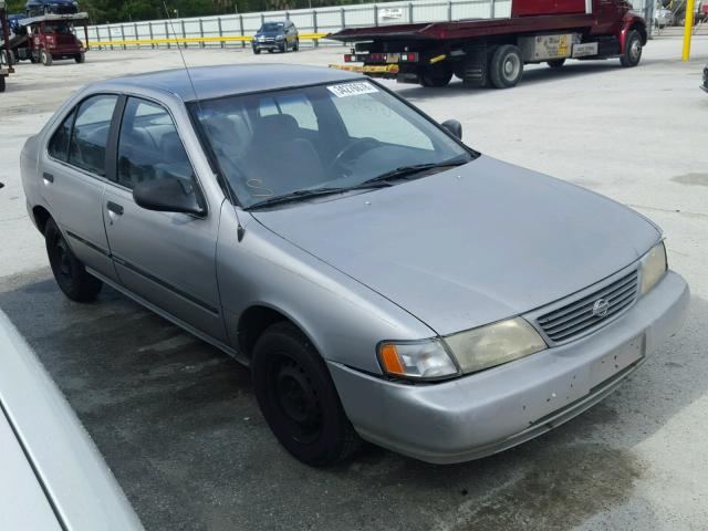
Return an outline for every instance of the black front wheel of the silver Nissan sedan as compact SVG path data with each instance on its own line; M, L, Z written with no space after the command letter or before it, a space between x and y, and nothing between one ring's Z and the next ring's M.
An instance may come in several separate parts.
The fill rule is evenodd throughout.
M291 323L273 324L256 342L251 377L266 421L300 461L325 467L358 448L322 356Z

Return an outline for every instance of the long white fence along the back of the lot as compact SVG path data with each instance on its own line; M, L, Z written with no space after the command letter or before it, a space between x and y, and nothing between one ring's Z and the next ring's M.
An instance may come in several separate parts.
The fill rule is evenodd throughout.
M191 19L124 22L88 28L93 49L159 48L178 39L187 46L246 46L264 21L289 19L298 27L302 44L317 45L320 37L343 28L439 22L461 19L507 18L512 0L417 0L343 6L337 8L268 11ZM634 2L635 11L653 19L652 0ZM138 42L142 41L142 42ZM327 43L326 40L321 41ZM329 44L334 44L329 41Z

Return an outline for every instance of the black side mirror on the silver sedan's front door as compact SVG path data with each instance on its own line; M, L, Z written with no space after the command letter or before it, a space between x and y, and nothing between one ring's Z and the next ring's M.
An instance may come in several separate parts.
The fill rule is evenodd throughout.
M175 178L146 180L133 188L133 199L146 210L204 216L206 209L197 194L192 185Z

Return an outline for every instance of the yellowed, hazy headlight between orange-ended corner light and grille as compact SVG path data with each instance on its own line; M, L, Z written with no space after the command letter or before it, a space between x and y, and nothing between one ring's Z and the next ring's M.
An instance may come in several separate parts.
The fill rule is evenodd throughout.
M462 373L475 373L546 348L533 326L521 317L500 321L445 337Z

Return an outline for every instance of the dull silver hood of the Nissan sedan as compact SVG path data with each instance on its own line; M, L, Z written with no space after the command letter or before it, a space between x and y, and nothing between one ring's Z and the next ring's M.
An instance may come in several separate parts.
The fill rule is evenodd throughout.
M570 295L660 237L615 201L485 156L391 188L252 214L440 335Z

